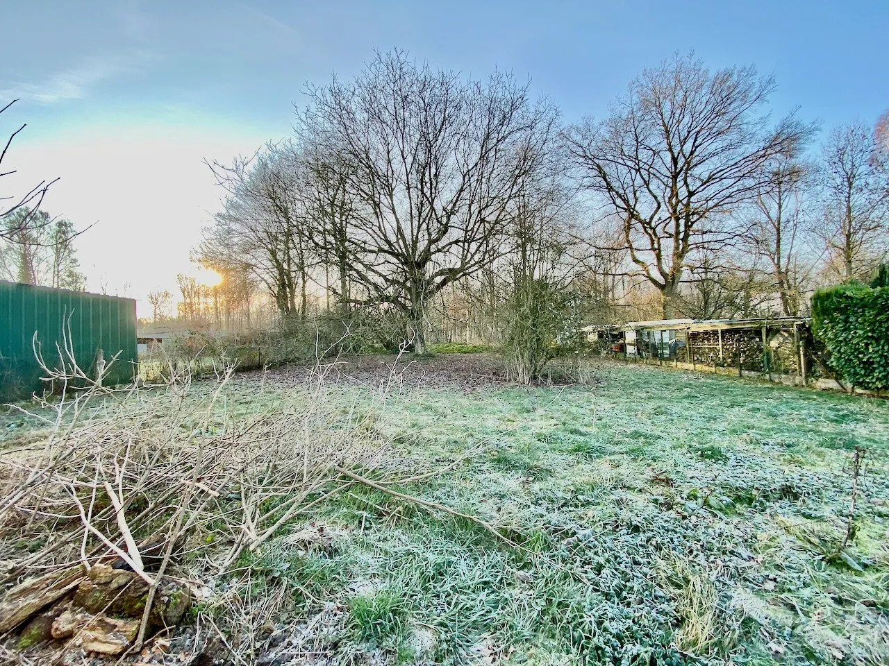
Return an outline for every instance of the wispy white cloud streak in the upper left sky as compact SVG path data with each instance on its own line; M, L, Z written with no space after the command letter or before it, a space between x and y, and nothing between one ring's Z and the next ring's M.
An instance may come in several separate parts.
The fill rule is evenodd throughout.
M29 99L37 104L56 104L67 99L82 99L97 85L117 75L131 72L147 64L148 53L123 56L92 56L75 67L62 69L39 83L14 83L0 90L0 99Z

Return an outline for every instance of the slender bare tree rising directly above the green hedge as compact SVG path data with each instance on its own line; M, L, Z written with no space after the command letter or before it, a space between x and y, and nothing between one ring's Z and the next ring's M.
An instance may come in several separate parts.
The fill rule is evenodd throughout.
M861 123L830 133L821 158L823 217L817 233L844 281L866 277L887 249L889 173Z

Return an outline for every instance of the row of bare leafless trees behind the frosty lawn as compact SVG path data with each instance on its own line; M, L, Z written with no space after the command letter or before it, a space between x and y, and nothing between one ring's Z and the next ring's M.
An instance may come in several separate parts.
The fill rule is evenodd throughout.
M889 123L830 130L816 151L816 123L770 115L774 88L677 56L566 125L512 75L380 53L308 86L292 139L210 165L227 198L196 257L236 285L230 312L265 294L284 321L395 322L420 352L806 313L813 289L889 249Z

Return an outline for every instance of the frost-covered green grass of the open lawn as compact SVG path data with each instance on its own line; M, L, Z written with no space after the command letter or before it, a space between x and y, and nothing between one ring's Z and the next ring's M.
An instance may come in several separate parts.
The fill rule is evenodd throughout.
M485 359L329 387L428 473L396 492L476 520L362 485L319 503L232 574L276 599L261 663L889 662L889 402L609 364L524 389ZM236 377L228 417L294 377Z

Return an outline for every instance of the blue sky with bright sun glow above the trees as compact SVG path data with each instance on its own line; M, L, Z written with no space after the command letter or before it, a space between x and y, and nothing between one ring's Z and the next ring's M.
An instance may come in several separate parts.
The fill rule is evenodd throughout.
M0 197L60 178L44 210L90 228L87 288L138 301L175 291L220 210L204 160L230 163L292 132L307 82L356 75L374 50L433 67L528 77L566 123L603 115L644 67L693 51L774 75L777 117L825 131L889 108L886 0L230 2L0 0Z

